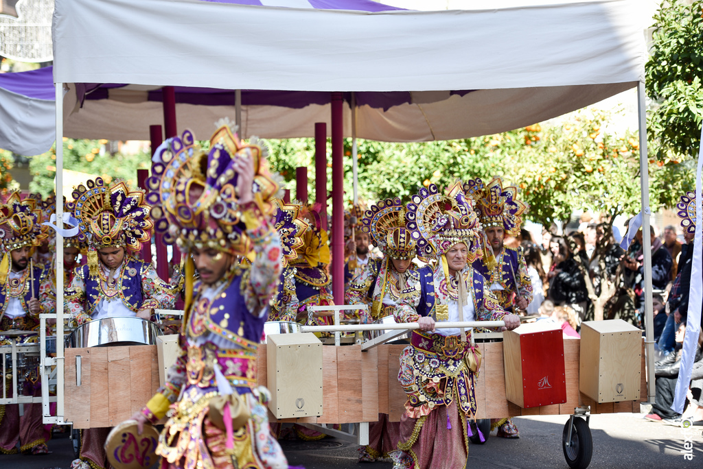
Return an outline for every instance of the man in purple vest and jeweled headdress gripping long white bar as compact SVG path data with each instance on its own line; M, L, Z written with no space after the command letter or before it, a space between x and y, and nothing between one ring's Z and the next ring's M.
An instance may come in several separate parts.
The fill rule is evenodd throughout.
M463 468L467 423L477 411L474 381L481 356L472 346L471 331L435 329L435 324L502 319L515 329L520 319L506 314L472 268L481 255L480 224L460 184L446 193L430 185L413 195L407 209L418 251L434 262L418 270L417 306L401 299L395 309L396 321L417 322L420 329L401 355L398 380L408 400L399 451L391 456L395 468Z

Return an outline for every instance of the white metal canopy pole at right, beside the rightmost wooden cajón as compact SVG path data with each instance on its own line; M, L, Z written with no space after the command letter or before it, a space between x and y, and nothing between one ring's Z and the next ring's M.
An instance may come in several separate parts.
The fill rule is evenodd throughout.
M647 402L654 402L654 313L652 311L652 239L650 238L650 174L647 160L647 109L645 83L637 84L640 131L640 193L642 197L642 252L645 273L645 348L647 358Z

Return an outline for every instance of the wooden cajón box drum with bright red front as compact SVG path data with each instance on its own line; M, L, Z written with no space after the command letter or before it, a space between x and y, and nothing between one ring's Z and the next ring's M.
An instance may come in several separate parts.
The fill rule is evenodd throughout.
M523 409L567 402L562 329L544 320L503 333L505 397Z

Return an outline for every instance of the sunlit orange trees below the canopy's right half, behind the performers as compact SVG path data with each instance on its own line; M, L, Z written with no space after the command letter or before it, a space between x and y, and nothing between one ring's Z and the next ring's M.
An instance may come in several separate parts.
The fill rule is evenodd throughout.
M428 143L359 140L359 195L366 202L405 201L422 185L500 176L520 187L527 218L544 225L567 221L576 210L631 215L640 209L636 133L605 131L607 115L578 112L560 124L535 124L494 136ZM269 140L271 168L280 171L295 197L295 167L307 166L314 199L314 141ZM344 142L344 199L352 199L351 140ZM328 149L328 161L331 161ZM328 164L328 166L331 166ZM690 165L651 160L650 206L673 206L688 189ZM328 167L328 190L331 169Z

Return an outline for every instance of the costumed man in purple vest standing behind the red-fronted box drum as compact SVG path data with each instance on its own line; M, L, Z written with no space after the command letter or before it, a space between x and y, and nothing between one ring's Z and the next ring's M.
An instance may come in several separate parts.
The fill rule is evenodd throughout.
M480 179L468 180L464 190L475 200L484 228L484 256L474 261L474 268L486 277L505 311L526 310L533 292L522 247L512 248L503 239L520 234L527 205L517 199L517 187L503 187L501 178L494 178L488 185ZM496 428L498 437L520 438L512 418L491 419L491 430Z

